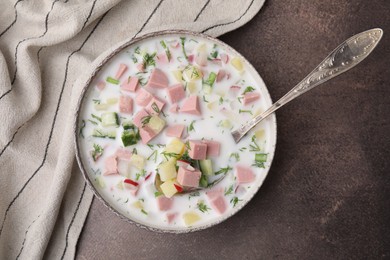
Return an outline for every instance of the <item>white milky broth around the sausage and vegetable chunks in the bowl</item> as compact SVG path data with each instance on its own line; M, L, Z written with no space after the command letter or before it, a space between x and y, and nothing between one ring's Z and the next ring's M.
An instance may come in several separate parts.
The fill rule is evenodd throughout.
M181 112L171 113L170 108L172 104L167 95L166 89L149 88L148 91L166 102L165 107L163 108L165 116L160 114L160 118L166 121L166 126L173 124L183 124L186 126L185 133L183 134L185 138L182 138L183 142L187 140L201 140L204 138L218 141L220 143L219 156L211 158L213 171L217 172L219 169L227 166L230 166L232 170L229 170L226 177L210 189L223 189L223 197L227 205L226 211L223 214L218 213L210 204L205 190L192 194L176 194L172 197L173 206L171 209L168 211L160 211L158 209L155 197L155 192L157 190L154 187L154 178L157 166L160 162L164 161L164 156L160 154L164 150L164 147L158 147L157 144L165 145L173 139L172 137L166 136L166 128L149 142L149 144L153 145L153 147L142 144L142 142L139 141L136 145L125 148L129 151L133 151L135 148L138 155L145 158L151 156L145 164L145 176L149 175L149 173L152 173L152 175L148 178L148 180L145 180L145 176L139 177L137 180L139 183L139 190L136 196L132 195L127 189L118 188L118 183L123 182L125 179L124 176L119 174L103 175L105 172L105 158L114 155L118 148L123 148L121 140L123 127L119 126L112 128L112 130L116 131L115 140L92 137L92 132L97 126L88 120L97 122L98 124L100 123L92 118L91 114L100 117L103 112L117 112L120 121L123 121L124 118L132 120L133 116L143 109L143 107L136 105L134 102L133 113L123 114L119 112L118 103L110 105L106 111L97 111L95 109L96 102L106 103L109 98L118 98L119 100L121 93L132 97L135 101L136 93L122 91L120 84L126 81L129 76L133 77L141 75L143 78L141 81L147 81L150 70L155 67L161 69L165 73L169 79L170 86L177 83L183 83L183 86L186 86L186 81L179 81L172 73L172 71L181 70L189 64L189 62L184 58L180 36L181 35L158 36L142 40L125 48L119 54L116 54L113 58L111 58L111 60L102 67L100 72L95 76L94 80L90 84L83 100L79 120L80 127L82 126L82 120L85 122L85 127L82 129L82 135L84 138L79 138L81 158L87 175L97 192L108 204L129 219L146 226L164 230L185 230L210 225L232 215L238 208L241 208L240 204L245 204L262 184L266 173L268 172L270 161L272 160L275 142L274 122L272 119L266 119L261 122L255 130L251 131L247 137L243 138L239 144L235 144L230 133L231 130L236 129L242 123L252 119L255 115L270 106L271 101L265 85L253 68L245 61L241 60L244 66L243 71L238 71L231 63L232 59L237 55L226 49L224 46L220 46L219 44L215 45L213 41L202 37L183 35L183 37L186 37L184 48L188 56L196 55L199 46L201 44L205 44L208 56L210 56L210 53L217 50L218 57L220 57L221 54L227 54L229 57L229 61L227 63L218 62L218 64L215 64L214 62L208 60L207 66L205 67L198 66L194 60L193 65L201 69L201 72L203 73L203 80L207 79L210 72L217 73L220 69L225 70L230 75L229 78L225 77L223 80L215 82L211 87L211 93L206 93L209 92L209 89L205 90L203 86L204 84L202 84L202 79L196 81L195 84L197 89L193 95L198 96L201 116ZM167 47L169 48L171 61L163 63L160 62L156 56L155 67L147 67L146 74L137 74L139 70L136 65L142 62L142 55L144 53L156 52L157 55L165 53L165 49L160 44L160 41L162 40L165 41ZM178 47L177 43L180 44ZM138 50L140 50L140 55L134 54L137 47L139 47ZM134 63L134 57L137 59L136 63ZM103 90L99 90L96 87L98 82L105 81L107 77L115 77L120 64L126 64L128 66L127 71L120 77L121 83L116 85L106 82L106 87ZM234 92L231 90L231 86L239 86L240 89ZM260 99L244 106L242 104L243 99L239 98L242 97L241 94L248 86L253 87L255 92L260 93ZM144 86L141 86L140 84L138 86L138 88L143 87ZM187 87L186 96L188 97L189 95L190 90ZM182 104L183 100L179 102L179 107L181 107ZM221 110L224 109L227 112L222 113ZM228 122L231 125L226 125L227 123L223 122ZM189 130L191 123L192 127L191 130ZM257 137L253 140L252 136L254 136L255 133ZM250 147L251 144L253 145L253 142L260 147L260 151L250 151ZM94 144L99 144L104 148L103 155L96 162L91 157L91 151L93 150ZM157 152L154 152L155 150ZM234 155L235 153L238 154L239 158L237 155ZM267 161L264 163L264 168L252 166L255 162L256 153L265 153L268 155ZM155 155L157 155L156 161L154 160ZM235 168L237 164L251 168L256 176L253 182L240 184L239 189L237 189ZM132 167L131 175L129 176L130 179L135 181L137 173L140 172L140 170ZM220 176L221 175L213 177L209 181ZM233 190L229 191L231 186L233 187ZM199 209L199 203L206 205L206 210L201 211ZM183 216L188 212L199 216L199 220L191 225L186 225ZM175 213L176 216L171 223L168 223L167 214L170 213Z

